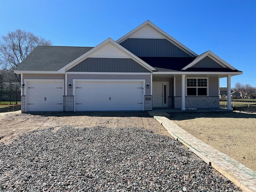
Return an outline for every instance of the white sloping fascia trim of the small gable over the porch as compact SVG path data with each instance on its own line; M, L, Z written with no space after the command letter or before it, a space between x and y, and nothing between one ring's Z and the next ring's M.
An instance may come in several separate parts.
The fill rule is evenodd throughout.
M199 62L200 60L202 60L203 58L205 58L206 56L210 57L212 60L214 60L215 62L217 62L218 64L220 64L222 67L224 68L230 68L232 70L236 70L236 68L234 68L233 66L231 66L230 64L228 64L226 61L224 61L222 58L218 57L216 54L214 54L213 52L211 52L210 50L205 52L204 54L202 54L200 57L196 58L193 62L191 62L190 64L188 64L186 67L184 67L182 70L186 70L187 68L192 67L193 65L195 65L197 62Z

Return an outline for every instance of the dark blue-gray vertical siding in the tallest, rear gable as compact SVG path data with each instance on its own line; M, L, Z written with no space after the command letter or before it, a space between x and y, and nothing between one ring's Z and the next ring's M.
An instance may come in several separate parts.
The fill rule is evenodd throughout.
M191 57L166 39L128 38L120 45L138 57Z

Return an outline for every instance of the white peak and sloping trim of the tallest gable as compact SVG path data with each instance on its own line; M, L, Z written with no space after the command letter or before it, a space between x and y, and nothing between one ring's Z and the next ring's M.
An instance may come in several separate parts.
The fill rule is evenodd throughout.
M192 57L198 56L192 50L178 42L172 36L164 32L162 29L158 28L158 26L154 25L152 22L147 20L142 23L140 26L136 27L134 30L130 31L126 35L122 36L120 39L116 40L118 44L123 42L128 38L156 38L156 39L166 39L170 41L172 44L186 52Z

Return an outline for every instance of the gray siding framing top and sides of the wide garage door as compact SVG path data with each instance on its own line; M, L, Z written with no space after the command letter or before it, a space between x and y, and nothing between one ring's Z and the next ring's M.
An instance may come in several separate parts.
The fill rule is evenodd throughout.
M109 75L109 74L67 74L67 95L72 96L73 89L68 88L69 83L73 83L73 79L106 79L106 80L145 80L145 84L151 84L151 75ZM150 86L151 87L151 86ZM145 86L146 94L145 95L151 95L150 88L147 89Z

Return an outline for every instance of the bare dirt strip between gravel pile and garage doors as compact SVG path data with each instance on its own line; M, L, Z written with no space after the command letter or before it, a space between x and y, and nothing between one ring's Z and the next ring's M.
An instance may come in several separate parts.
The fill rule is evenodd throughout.
M21 111L0 113L0 143L12 142L18 134L39 128L62 126L76 128L106 127L138 127L153 130L157 134L170 136L147 112L87 112L87 113L33 113L22 114ZM171 137L171 136L170 136Z

